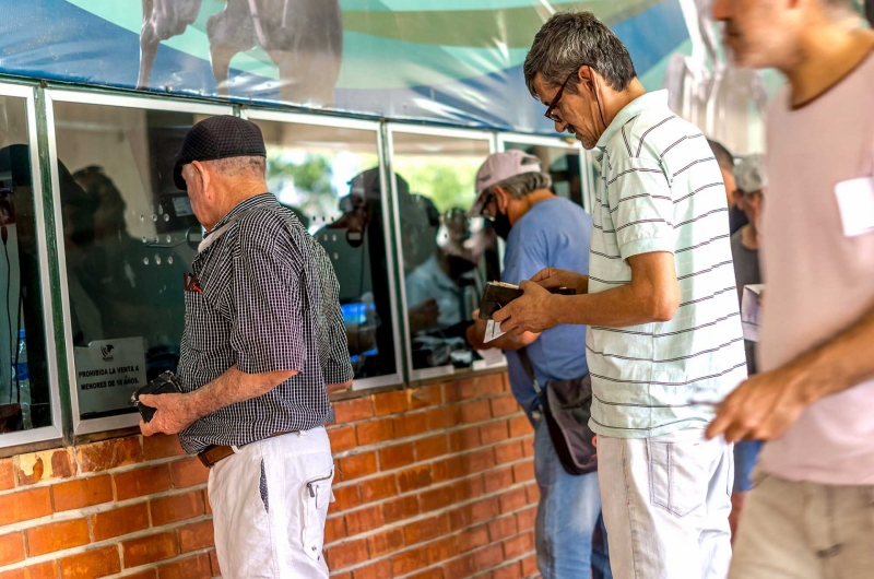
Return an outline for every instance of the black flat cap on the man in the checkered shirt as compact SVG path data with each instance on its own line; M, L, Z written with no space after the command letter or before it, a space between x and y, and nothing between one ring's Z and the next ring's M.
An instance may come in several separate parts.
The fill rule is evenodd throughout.
M229 157L265 157L264 138L255 122L222 115L204 119L188 131L176 156L173 180L187 191L182 166L192 161L215 161Z

